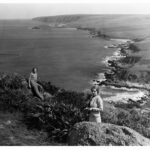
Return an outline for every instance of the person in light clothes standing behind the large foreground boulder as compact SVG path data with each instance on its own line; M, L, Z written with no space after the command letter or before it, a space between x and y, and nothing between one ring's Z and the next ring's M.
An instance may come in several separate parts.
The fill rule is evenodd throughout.
M90 107L87 108L90 111L89 121L101 123L101 114L103 111L103 100L99 95L98 86L91 88L92 98L90 100Z

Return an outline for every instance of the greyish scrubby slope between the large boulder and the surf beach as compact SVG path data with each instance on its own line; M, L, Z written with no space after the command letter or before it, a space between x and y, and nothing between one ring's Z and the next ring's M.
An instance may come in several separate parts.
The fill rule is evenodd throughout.
M135 109L109 108L104 109L102 121L120 126L127 126L143 136L150 138L150 118Z

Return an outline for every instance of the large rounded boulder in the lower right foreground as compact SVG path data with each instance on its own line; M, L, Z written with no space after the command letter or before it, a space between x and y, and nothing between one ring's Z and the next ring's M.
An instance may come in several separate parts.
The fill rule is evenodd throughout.
M81 122L74 125L68 135L69 145L101 146L143 146L150 145L147 139L136 131L113 124Z

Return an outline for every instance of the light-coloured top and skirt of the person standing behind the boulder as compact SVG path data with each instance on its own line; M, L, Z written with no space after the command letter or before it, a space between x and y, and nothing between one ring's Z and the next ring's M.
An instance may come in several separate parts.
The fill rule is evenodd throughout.
M90 102L90 108L99 108L101 111L103 111L103 100L100 97L100 95L97 95L92 98ZM91 111L89 116L90 122L101 122L101 114L100 111Z

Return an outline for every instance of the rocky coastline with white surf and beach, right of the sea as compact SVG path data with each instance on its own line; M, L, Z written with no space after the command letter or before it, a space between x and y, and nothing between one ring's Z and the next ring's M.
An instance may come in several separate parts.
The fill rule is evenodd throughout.
M109 40L115 43L117 42L117 44L104 46L104 48L107 49L116 48L112 56L106 56L105 59L102 60L106 68L108 68L108 71L98 73L96 79L92 80L91 84L99 85L101 87L101 94L108 95L103 98L104 101L110 103L129 103L132 100L133 102L139 102L141 106L144 105L147 103L150 94L150 86L146 83L141 84L132 81L132 79L130 81L128 78L120 79L118 77L119 71L123 71L123 69L129 71L131 65L134 66L134 64L140 61L136 56L131 56L131 54L139 51L138 47L134 45L135 42L139 41L118 38L110 38ZM128 58L130 58L130 62ZM110 91L107 91L107 88L109 88ZM113 90L113 92L111 92L111 90ZM116 92L114 92L115 90ZM120 90L122 91L120 92Z

